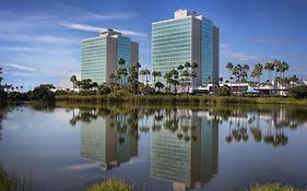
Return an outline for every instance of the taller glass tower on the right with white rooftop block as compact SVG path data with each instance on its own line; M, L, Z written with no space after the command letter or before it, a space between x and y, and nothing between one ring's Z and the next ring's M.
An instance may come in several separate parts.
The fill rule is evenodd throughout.
M197 63L193 86L219 82L219 27L210 19L188 10L175 12L175 19L152 24L153 70L163 75L185 62ZM164 82L162 77L157 81Z

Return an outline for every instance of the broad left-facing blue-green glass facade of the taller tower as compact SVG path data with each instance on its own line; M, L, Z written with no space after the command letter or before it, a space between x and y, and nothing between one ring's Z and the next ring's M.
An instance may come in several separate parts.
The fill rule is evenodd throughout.
M191 17L153 23L153 70L161 71L164 75L179 64L191 62ZM165 82L163 76L157 81Z

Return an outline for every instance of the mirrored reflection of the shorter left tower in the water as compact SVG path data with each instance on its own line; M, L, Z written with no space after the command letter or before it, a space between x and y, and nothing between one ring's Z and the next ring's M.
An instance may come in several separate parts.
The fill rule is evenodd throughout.
M138 156L138 139L129 133L127 117L97 117L81 122L81 156L108 170Z

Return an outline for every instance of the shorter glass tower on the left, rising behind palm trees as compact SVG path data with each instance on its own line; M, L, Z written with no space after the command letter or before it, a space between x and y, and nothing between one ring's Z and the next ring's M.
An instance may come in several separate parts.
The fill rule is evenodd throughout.
M98 84L110 83L110 74L118 68L118 59L125 68L139 61L139 44L113 29L101 32L98 37L82 40L81 79Z

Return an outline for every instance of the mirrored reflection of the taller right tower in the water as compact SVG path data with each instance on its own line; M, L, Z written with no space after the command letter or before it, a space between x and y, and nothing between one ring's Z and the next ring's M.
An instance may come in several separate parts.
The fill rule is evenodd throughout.
M217 174L219 122L208 112L169 111L154 126L161 129L152 132L152 178L186 190L202 187Z

